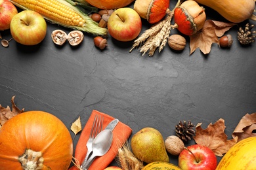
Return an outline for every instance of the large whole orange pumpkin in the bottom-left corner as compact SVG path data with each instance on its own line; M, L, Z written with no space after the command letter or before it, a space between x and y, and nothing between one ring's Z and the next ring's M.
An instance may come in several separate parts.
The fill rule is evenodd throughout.
M68 169L73 154L66 126L47 112L29 111L0 129L0 169ZM23 167L22 167L23 163ZM31 167L31 166L30 166Z

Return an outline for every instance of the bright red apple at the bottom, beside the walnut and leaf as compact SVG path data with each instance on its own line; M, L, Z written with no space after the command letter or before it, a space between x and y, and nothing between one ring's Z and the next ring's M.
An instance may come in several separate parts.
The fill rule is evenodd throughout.
M181 151L179 167L183 170L215 170L217 167L217 157L207 146L194 144Z

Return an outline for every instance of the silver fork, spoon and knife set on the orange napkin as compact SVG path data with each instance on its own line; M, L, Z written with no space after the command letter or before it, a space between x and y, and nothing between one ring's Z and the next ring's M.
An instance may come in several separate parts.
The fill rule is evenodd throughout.
M81 164L81 169L89 169L91 163L93 163L97 156L104 156L104 154L108 152L113 141L112 131L118 122L118 119L114 119L104 130L102 130L103 117L98 116L98 114L95 115L89 140L86 144L87 154L85 160L83 160L83 163Z

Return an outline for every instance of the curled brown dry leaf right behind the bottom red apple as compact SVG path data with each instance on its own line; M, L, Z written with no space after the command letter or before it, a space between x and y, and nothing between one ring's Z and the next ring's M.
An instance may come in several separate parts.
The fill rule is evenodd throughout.
M202 129L201 124L196 126L196 136L193 138L197 144L211 148L217 156L223 156L238 141L238 137L227 140L227 135L224 133L226 126L222 118L215 124L209 124L206 129Z

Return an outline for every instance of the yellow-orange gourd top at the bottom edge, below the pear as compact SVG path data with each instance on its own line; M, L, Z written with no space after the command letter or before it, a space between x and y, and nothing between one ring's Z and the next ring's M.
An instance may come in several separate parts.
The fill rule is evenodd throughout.
M172 169L172 170L181 170L180 167L173 165L172 163L167 163L165 161L154 161L152 163L148 163L141 170L154 170L154 169Z

